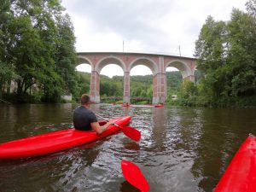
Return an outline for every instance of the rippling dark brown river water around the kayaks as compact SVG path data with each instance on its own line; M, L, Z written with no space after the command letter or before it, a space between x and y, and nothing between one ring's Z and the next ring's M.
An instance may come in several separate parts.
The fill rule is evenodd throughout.
M0 143L72 127L77 106L2 104ZM105 118L131 115L141 141L119 132L55 154L2 160L0 191L138 191L125 181L121 160L141 169L152 192L212 191L248 134L256 135L256 108L91 108Z

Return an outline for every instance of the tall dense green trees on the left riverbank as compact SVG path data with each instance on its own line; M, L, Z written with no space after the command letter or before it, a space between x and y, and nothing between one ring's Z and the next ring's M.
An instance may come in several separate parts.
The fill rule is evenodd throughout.
M76 88L75 38L63 10L59 0L3 0L0 83L15 81L20 101L35 84L45 102L57 102Z

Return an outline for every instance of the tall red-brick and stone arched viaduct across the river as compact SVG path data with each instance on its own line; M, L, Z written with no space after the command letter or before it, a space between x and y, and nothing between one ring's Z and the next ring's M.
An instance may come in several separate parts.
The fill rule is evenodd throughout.
M79 52L77 65L86 63L91 66L90 96L91 101L99 103L100 73L108 64L116 64L124 71L123 102L130 103L130 72L137 65L150 68L153 73L153 104L166 102L166 68L176 67L184 79L195 81L195 59L183 56L157 55L126 52Z

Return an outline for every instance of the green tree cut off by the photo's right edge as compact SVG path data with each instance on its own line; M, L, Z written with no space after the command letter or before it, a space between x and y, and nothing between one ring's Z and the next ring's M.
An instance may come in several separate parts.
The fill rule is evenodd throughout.
M227 75L233 96L256 93L256 17L233 9L228 23L229 52Z

